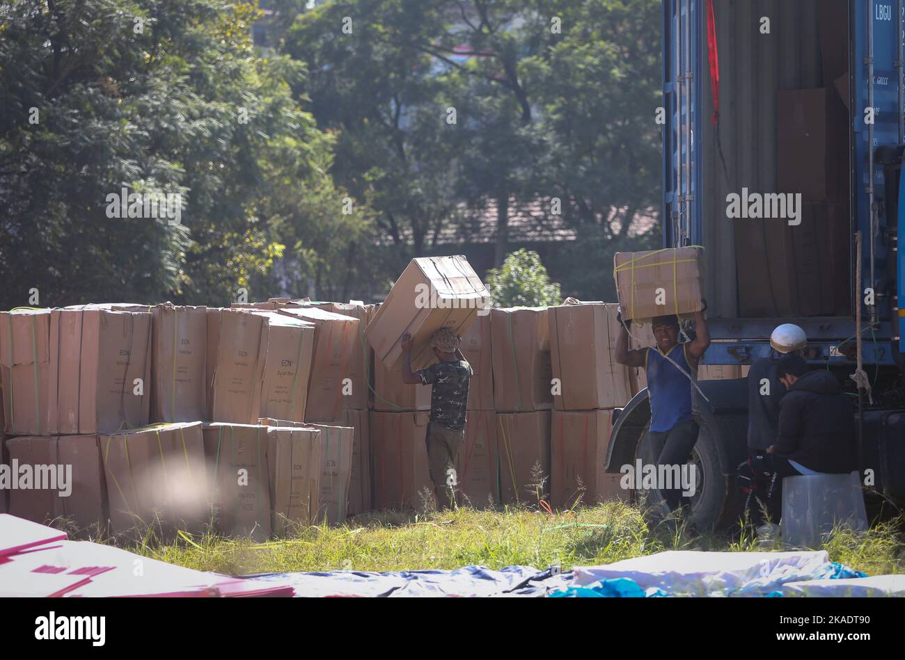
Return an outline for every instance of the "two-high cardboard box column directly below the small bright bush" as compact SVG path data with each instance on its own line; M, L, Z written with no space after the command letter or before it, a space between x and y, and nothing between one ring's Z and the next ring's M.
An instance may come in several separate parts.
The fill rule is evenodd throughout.
M550 477L552 365L547 307L491 311L500 501L532 502ZM546 491L548 492L548 490Z

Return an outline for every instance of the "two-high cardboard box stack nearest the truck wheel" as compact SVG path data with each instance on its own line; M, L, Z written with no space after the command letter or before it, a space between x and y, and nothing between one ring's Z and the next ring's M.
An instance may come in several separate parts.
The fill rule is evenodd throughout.
M554 397L551 430L553 506L594 504L628 495L605 472L613 409L633 395L633 374L613 359L618 305L550 307Z

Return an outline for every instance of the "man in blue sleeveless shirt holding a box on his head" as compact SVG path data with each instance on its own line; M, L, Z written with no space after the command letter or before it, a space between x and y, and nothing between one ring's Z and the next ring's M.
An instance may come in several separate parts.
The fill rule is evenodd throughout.
M620 321L622 317L620 316ZM674 315L653 319L657 345L628 350L628 331L622 325L616 339L614 359L630 367L643 367L651 401L651 427L648 431L658 466L679 466L688 460L698 440L698 422L692 414L692 381L698 377L698 360L710 346L710 332L702 311L694 313L695 337L679 342L679 319ZM660 471L658 470L658 474ZM661 490L673 511L681 505L681 486Z

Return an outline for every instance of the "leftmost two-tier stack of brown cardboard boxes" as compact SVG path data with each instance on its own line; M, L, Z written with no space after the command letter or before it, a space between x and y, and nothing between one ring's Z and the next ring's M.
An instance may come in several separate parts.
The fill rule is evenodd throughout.
M0 313L10 513L105 523L99 437L148 424L152 316L143 309Z

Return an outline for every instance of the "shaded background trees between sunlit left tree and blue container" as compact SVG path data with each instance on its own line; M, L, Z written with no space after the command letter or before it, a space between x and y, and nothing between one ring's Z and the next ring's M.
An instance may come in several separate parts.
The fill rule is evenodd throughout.
M303 107L337 136L334 177L371 203L387 241L411 246L401 257L450 225L469 240L465 205L496 212L499 267L513 204L540 201L538 229L580 236L557 248L570 254L550 262L557 274L602 297L591 271L611 271L606 259L638 244L635 215L660 205L659 12L657 0L343 0L300 14L285 43L309 66Z

